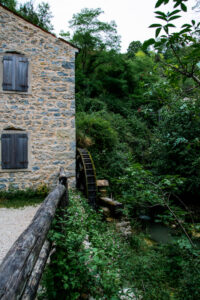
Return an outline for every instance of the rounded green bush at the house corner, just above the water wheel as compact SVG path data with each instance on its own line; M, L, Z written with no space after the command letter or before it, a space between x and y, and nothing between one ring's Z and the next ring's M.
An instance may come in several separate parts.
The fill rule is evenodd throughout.
M91 152L98 178L111 181L123 174L129 149L120 142L116 127L103 113L78 114L77 143Z

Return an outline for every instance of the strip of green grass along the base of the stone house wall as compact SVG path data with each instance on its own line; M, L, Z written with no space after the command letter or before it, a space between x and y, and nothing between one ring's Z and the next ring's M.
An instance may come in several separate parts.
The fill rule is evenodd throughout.
M41 186L37 189L13 190L0 192L0 208L20 208L25 206L37 205L41 203L48 189L46 186Z

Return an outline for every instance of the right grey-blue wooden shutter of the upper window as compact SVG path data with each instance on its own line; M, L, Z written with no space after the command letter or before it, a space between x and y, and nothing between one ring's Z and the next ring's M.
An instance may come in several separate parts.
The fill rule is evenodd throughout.
M15 76L15 90L27 92L28 91L28 59L26 57L16 56L16 76Z

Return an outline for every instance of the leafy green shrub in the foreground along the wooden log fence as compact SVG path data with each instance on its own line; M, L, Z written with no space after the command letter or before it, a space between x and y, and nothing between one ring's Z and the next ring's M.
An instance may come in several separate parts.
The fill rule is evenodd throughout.
M122 240L85 199L79 195L70 198L65 220L54 223L50 233L56 251L44 276L46 296L65 300L89 295L95 299L119 299L127 280L127 272L121 272L127 256Z

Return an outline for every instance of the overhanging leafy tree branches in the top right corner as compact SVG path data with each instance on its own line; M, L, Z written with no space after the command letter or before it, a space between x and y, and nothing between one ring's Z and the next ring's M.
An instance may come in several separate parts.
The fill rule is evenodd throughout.
M162 4L166 5L170 0L158 0L156 2L156 8ZM146 42L146 46L154 45L158 52L170 50L172 55L168 60L159 59L163 66L171 70L172 72L181 74L183 78L191 78L197 87L200 87L200 22L195 20L191 21L191 24L183 24L179 32L170 33L170 28L175 28L173 21L180 18L180 12L186 12L187 6L185 2L187 0L174 0L174 10L172 12L164 13L162 11L156 11L156 18L164 21L164 24L156 23L152 24L151 28L156 28L156 39L150 39ZM160 36L160 33L164 31L164 34ZM158 38L159 37L159 38Z

